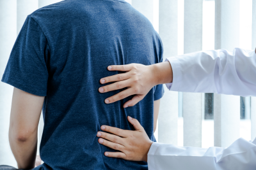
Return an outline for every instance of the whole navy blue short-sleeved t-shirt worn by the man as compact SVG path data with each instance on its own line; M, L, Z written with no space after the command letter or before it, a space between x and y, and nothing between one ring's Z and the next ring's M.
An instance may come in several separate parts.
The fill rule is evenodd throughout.
M125 101L105 104L120 92L98 92L100 78L119 73L109 65L155 64L163 46L152 24L124 0L67 0L28 16L13 46L2 81L45 96L44 132L36 169L147 169L147 162L104 156L114 151L100 145L101 125L134 130L137 118L153 134L154 101L163 96L157 85L133 107Z

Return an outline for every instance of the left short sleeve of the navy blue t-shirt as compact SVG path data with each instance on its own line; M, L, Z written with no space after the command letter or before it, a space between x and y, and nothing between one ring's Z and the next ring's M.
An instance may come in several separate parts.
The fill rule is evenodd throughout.
M2 81L30 94L46 96L49 53L44 32L28 16L13 46Z

